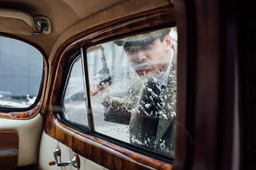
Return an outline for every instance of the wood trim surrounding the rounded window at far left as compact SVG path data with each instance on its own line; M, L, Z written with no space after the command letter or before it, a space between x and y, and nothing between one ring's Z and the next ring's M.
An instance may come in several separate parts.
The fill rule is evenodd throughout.
M49 71L48 70L49 66L48 66L46 54L44 53L44 51L42 50L42 48L40 46L38 46L35 43L29 42L28 40L25 40L23 38L17 37L17 36L12 35L12 34L3 33L3 32L0 32L0 36L8 37L8 38L12 38L12 39L15 39L15 40L25 42L25 43L33 46L34 48L36 48L43 56L43 59L44 59L44 69L43 69L44 77L42 77L42 80L41 80L41 81L43 81L42 82L42 87L41 87L42 89L41 89L40 99L39 99L37 105L35 105L34 108L32 108L31 110L28 110L28 111L11 111L11 112L8 112L8 113L0 112L0 118L5 118L5 119L31 119L31 118L35 117L38 113L40 113L40 110L42 108L42 101L43 101L44 96L45 96L46 85L47 85L47 77L48 77L48 71Z

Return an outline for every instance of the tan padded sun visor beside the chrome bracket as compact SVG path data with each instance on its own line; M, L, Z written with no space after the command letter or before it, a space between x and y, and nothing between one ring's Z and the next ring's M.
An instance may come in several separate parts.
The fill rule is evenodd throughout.
M32 16L23 11L0 8L0 23L0 30L7 33L32 35L35 31Z

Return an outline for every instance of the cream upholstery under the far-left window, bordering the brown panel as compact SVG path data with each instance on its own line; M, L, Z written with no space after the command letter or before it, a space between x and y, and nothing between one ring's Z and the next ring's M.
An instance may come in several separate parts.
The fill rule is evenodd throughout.
M38 162L43 117L38 113L32 119L0 118L0 130L16 130L19 134L18 164L25 166Z

